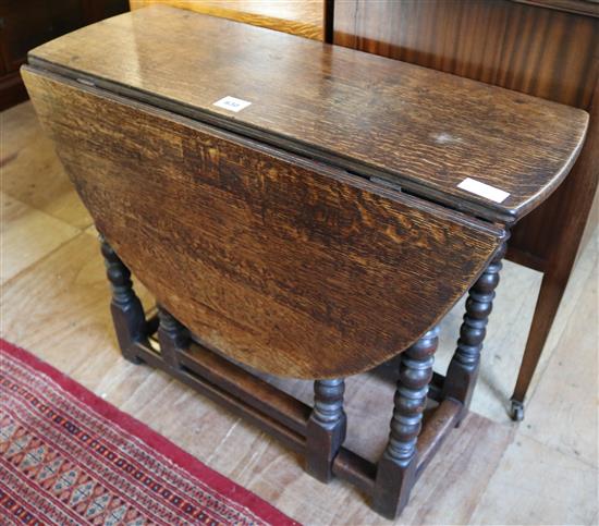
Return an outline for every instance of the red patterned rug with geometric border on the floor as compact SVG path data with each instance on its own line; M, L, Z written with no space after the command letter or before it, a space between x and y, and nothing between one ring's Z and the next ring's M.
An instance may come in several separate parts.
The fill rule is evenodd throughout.
M0 524L296 524L0 339Z

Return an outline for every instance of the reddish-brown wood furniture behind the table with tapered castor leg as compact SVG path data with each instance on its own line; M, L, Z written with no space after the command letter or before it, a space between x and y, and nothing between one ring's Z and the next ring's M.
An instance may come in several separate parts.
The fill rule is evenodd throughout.
M578 0L344 0L334 42L591 111L580 161L512 232L508 258L545 272L518 381L522 407L579 248L596 161L599 5ZM595 160L594 159L595 156ZM583 160L584 159L584 160ZM522 411L514 413L522 416Z

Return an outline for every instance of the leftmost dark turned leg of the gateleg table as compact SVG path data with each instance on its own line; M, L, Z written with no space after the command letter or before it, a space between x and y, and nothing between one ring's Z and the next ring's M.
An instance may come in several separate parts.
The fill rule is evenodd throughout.
M146 342L146 316L142 302L133 291L131 272L119 258L117 253L100 235L101 252L106 264L106 274L112 288L112 301L110 311L117 331L117 339L123 356L139 364L140 360L135 354L134 343Z

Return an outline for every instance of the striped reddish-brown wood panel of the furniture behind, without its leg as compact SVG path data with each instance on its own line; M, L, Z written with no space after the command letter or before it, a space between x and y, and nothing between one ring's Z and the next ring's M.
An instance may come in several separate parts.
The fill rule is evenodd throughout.
M334 42L586 110L598 82L599 19L509 0L344 0ZM516 225L512 256L543 269L569 199L595 188L586 175L575 170Z

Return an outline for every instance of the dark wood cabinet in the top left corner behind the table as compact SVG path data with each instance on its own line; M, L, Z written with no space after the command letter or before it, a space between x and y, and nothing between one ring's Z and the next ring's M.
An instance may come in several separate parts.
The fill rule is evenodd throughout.
M19 68L29 49L127 10L126 0L0 1L0 110L27 98Z

